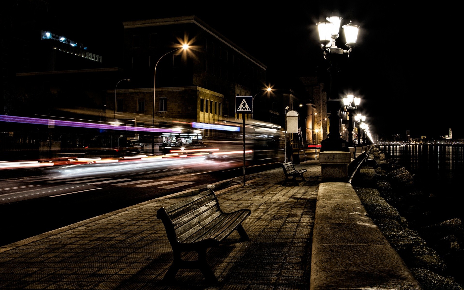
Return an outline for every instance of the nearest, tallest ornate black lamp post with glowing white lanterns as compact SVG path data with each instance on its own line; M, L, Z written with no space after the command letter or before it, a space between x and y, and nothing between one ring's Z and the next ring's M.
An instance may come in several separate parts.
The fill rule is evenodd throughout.
M347 25L342 26L345 31L346 46L349 51L338 48L335 45L335 40L340 36L338 34L340 30L340 23L342 17L329 16L324 21L317 23L319 31L319 42L324 53L324 58L329 60L330 66L328 71L330 72L330 97L326 101L327 110L330 114L329 120L329 134L328 138L321 141L321 151L336 150L336 151L348 151L348 148L343 149L342 143L346 142L341 138L339 120L340 116L338 111L342 108L342 100L338 97L338 73L341 71L340 62L344 56L348 56L353 51L356 45L356 39L360 26L354 25L351 22Z

